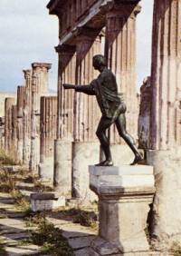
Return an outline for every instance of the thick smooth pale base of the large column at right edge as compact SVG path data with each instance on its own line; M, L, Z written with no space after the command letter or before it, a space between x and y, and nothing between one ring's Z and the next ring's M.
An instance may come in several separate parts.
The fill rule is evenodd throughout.
M181 148L148 151L148 164L154 166L156 195L152 210L153 247L165 251L181 244ZM177 212L177 213L176 213Z

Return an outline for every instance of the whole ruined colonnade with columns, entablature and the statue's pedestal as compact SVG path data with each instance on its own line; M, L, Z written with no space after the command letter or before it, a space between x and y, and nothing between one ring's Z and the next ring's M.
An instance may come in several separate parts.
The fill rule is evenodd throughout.
M87 204L99 197L99 235L107 249L112 244L118 249L109 255L128 255L131 250L145 253L134 255L149 255L143 232L148 212L155 250L181 242L181 216L175 214L181 210L181 1L154 1L151 74L143 81L140 97L136 87L139 2L51 0L47 8L59 21L57 95L48 92L52 64L33 63L23 71L24 85L17 87L17 100L5 98L5 118L0 119L1 148L14 153L30 172L48 181L65 199ZM88 172L88 166L103 157L95 135L100 111L95 98L65 91L62 84L89 84L96 78L95 54L104 54L116 75L127 103L127 129L145 152L147 165L132 167L135 172L128 169L133 154L114 126L108 135L116 167L110 172L91 166ZM124 218L131 220L128 225ZM135 240L129 237L130 223L136 234L140 229ZM127 240L127 235L130 243L119 244L120 237ZM90 255L104 255L100 249L91 244ZM119 254L121 250L124 254Z

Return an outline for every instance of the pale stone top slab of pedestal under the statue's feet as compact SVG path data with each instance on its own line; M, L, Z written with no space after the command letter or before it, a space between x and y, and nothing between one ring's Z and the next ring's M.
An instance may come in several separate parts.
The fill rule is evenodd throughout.
M145 165L90 166L90 189L100 192L126 192L133 190L140 193L154 187L153 167Z

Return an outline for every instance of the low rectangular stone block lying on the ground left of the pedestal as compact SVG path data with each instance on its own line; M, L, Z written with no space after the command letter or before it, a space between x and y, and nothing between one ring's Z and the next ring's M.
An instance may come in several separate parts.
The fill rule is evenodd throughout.
M43 212L65 206L65 198L53 192L31 194L31 209L33 212Z

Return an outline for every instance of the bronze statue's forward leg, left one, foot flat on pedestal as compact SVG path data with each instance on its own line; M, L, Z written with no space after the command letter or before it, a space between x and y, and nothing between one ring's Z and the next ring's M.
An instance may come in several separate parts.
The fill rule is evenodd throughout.
M106 160L104 162L100 162L99 164L97 164L100 166L101 165L104 165L104 166L113 165L112 157L111 157L111 153L110 153L110 142L109 142L108 137L106 136L106 130L110 127L111 124L112 124L111 119L102 116L100 119L100 123L98 125L97 132L96 132L96 135L98 136L98 138L100 140L101 148L106 157Z

